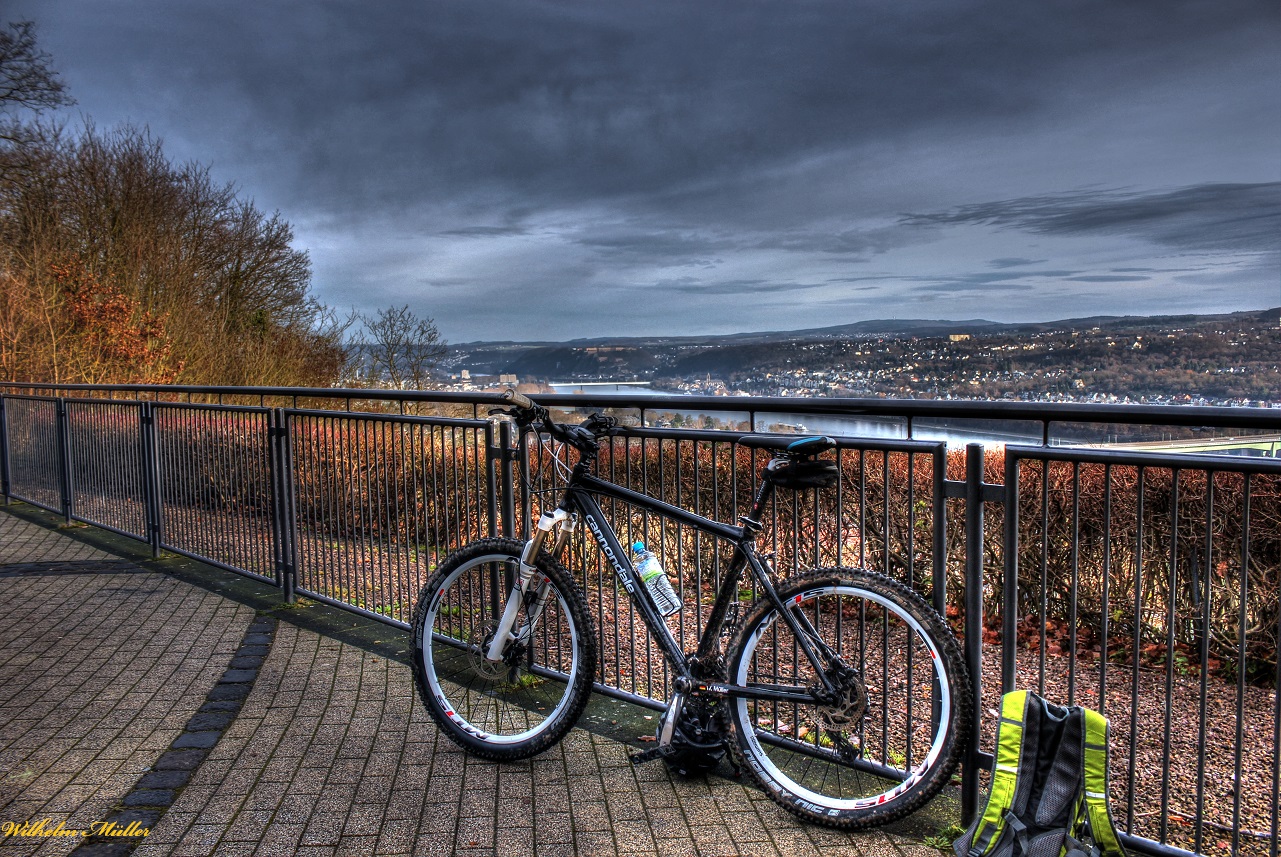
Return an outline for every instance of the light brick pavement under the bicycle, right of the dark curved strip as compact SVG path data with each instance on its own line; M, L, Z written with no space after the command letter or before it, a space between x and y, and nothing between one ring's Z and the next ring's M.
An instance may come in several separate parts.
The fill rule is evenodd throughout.
M282 623L240 717L135 853L901 853L629 749L575 729L533 760L475 758L437 733L405 665Z

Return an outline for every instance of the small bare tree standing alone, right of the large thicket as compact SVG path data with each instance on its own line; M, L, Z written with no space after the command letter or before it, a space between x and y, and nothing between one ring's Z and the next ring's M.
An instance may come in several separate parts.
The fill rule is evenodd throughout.
M355 346L369 361L374 383L395 389L423 389L446 354L446 342L433 319L405 306L389 306L377 315L361 315L365 325Z

